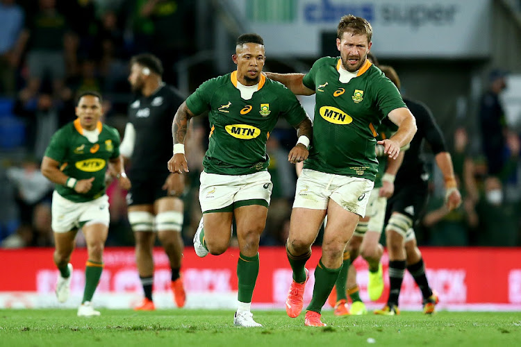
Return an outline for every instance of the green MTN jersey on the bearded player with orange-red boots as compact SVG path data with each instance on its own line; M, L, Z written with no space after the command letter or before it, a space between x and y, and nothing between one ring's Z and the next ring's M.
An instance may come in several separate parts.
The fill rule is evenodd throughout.
M304 85L316 92L313 147L304 168L374 180L375 129L390 111L406 105L369 60L348 83L339 81L341 64L340 57L320 58L304 76Z

